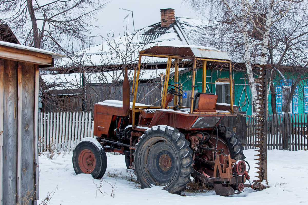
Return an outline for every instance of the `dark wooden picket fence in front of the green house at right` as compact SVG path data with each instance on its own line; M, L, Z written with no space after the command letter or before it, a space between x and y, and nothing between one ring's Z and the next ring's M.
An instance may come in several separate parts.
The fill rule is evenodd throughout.
M308 114L273 114L267 116L268 149L307 150ZM247 123L246 149L256 148L256 118Z

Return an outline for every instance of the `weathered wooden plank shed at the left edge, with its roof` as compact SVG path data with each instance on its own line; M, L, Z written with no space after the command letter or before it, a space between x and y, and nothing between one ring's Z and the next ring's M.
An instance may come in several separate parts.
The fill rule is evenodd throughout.
M39 68L62 57L0 41L0 205L37 203Z

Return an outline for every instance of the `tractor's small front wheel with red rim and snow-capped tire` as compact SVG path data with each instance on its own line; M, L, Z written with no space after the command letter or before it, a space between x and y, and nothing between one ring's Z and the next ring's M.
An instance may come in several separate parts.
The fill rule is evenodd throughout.
M94 138L83 138L74 150L73 167L76 174L91 174L100 179L107 168L106 152Z

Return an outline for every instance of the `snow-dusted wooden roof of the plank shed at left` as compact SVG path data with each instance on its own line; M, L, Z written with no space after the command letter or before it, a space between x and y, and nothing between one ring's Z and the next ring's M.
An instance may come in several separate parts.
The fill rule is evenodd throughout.
M61 59L63 57L66 56L26 45L0 41L0 58L3 59L38 65L53 65L52 58Z

